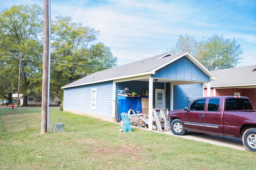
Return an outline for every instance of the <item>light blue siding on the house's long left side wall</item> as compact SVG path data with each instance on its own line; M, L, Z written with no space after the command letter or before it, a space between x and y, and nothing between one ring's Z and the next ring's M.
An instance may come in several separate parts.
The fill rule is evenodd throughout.
M112 117L112 81L64 89L63 109ZM91 91L96 89L96 109L91 109Z

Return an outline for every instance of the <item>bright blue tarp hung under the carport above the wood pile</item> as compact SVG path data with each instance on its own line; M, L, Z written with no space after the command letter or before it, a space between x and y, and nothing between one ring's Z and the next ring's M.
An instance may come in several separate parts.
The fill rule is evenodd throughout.
M117 96L119 113L128 113L130 108L133 108L134 111L142 112L141 106L141 97L126 97L126 96Z

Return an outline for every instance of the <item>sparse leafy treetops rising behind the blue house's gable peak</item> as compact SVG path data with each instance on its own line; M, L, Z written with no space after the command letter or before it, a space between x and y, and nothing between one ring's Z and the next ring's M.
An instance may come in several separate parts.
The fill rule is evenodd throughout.
M209 70L236 67L243 53L235 39L225 39L223 35L216 34L199 42L188 35L180 36L172 52L177 54L185 51L190 52Z

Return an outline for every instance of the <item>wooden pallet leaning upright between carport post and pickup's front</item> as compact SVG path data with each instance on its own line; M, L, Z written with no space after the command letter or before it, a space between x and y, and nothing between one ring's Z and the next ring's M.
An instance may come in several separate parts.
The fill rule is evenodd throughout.
M158 131L163 132L170 130L170 127L168 126L166 120L168 109L152 109L152 112L156 121ZM158 112L158 115L156 112Z

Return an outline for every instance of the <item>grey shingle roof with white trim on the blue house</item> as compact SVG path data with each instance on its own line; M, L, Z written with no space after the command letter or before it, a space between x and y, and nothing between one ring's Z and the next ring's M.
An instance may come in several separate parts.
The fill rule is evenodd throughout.
M93 73L82 79L79 79L68 85L63 86L62 89L92 83L100 83L104 81L117 80L122 78L129 78L134 76L155 74L155 71L157 71L158 69L184 56L188 57L194 64L196 64L200 69L202 69L211 79L216 79L216 77L210 71L208 71L201 63L199 63L194 57L192 57L190 53L184 52L173 55L171 52L168 52Z

